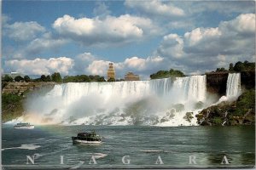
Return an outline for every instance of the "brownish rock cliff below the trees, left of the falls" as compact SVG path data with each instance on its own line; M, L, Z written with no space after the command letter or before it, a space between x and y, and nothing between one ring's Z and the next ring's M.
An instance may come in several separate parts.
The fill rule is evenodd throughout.
M22 95L26 91L32 91L38 88L51 87L56 82L9 82L2 89L2 94L18 94Z

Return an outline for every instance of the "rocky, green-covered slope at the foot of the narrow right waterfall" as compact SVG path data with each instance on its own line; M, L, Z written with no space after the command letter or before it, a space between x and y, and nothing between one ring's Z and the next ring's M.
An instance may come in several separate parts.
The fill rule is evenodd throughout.
M247 90L236 101L212 105L196 117L202 126L254 125L255 90Z

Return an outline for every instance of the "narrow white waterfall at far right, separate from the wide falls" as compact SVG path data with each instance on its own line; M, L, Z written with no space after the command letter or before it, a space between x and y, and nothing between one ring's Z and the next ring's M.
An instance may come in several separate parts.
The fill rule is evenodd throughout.
M229 73L226 96L228 99L236 98L241 94L241 75L240 73Z

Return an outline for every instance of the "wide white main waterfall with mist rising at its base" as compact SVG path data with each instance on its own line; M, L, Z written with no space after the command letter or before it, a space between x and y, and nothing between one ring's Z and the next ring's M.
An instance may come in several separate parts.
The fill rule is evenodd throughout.
M206 76L136 82L69 82L27 100L30 122L92 125L197 125ZM188 113L189 112L189 113ZM188 118L189 115L194 118ZM33 115L33 116L31 116ZM36 118L35 118L36 117Z

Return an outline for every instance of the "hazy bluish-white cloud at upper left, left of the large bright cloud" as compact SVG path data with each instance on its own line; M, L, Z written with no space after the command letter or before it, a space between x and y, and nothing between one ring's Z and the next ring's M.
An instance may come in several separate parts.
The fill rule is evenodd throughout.
M5 23L3 26L3 35L12 38L15 41L31 40L36 37L38 33L42 33L44 31L44 26L40 26L35 21L15 22L14 24Z

